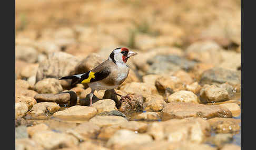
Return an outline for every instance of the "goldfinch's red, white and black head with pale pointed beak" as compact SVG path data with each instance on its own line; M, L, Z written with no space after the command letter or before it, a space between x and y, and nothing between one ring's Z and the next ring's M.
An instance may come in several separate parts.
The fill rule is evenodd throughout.
M125 47L119 47L111 52L109 59L111 59L114 63L126 63L127 60L134 55L137 55L137 53Z

